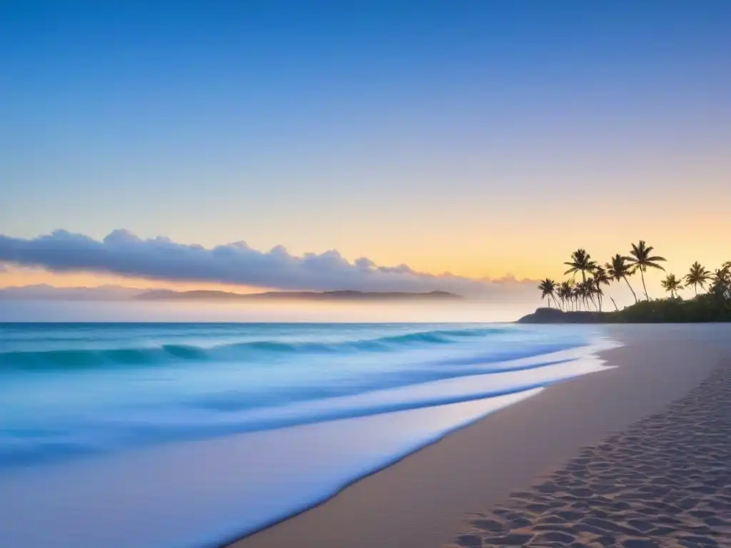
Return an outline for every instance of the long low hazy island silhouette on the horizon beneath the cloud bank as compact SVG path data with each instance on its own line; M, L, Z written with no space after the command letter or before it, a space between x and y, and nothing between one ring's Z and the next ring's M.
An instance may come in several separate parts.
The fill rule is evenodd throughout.
M325 292L265 292L265 293L232 293L225 291L173 291L172 289L153 289L138 294L135 300L254 300L254 301L452 301L461 300L458 294L431 291L425 293L409 292L360 292L360 291L325 291Z

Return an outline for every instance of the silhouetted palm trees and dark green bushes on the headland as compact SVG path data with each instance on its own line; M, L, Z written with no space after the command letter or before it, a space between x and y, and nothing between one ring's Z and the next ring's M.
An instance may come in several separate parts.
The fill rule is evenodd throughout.
M548 302L548 309L553 308L540 313L539 319L587 322L731 321L731 261L713 273L699 262L694 262L681 278L668 273L662 281L668 297L651 299L645 284L645 272L648 269L665 270L661 264L665 262L664 257L653 255L653 251L652 246L640 240L632 244L629 255L616 254L601 266L591 259L586 250L577 249L564 263L569 267L565 274L572 275L572 278L561 283L546 278L539 283L541 298ZM575 278L579 273L581 281L577 282ZM640 273L644 300L637 298L629 282L629 278L637 273ZM626 283L635 297L634 305L619 310L608 294L613 282ZM694 289L695 296L683 300L678 292L689 287ZM612 301L613 312L602 311L605 296Z

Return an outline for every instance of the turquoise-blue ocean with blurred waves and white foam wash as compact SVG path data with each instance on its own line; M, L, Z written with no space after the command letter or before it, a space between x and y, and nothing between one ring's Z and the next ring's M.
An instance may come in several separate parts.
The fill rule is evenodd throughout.
M612 346L591 326L0 324L0 544L217 546Z

